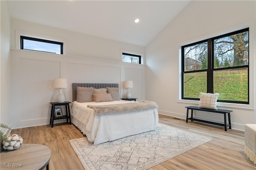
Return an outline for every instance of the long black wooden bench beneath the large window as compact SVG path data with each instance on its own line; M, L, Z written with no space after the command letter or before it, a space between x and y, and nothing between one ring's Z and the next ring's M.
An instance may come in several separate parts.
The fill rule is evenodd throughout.
M213 124L213 125L218 125L218 126L224 126L225 127L225 131L227 131L227 127L229 127L229 129L231 129L231 120L230 120L230 112L232 112L232 110L214 110L214 109L203 109L203 108L199 108L199 107L194 107L194 106L187 106L187 118L186 118L186 123L188 123L188 120L191 121L200 121L203 123L209 123L209 124ZM188 118L188 110L191 110L191 117ZM212 122L212 121L205 121L205 120L201 120L201 119L194 119L193 118L193 110L199 110L199 111L208 111L208 112L213 112L213 113L222 113L224 114L224 124L221 123L216 123L216 122ZM227 118L226 118L226 114L228 113L228 125L227 125Z

